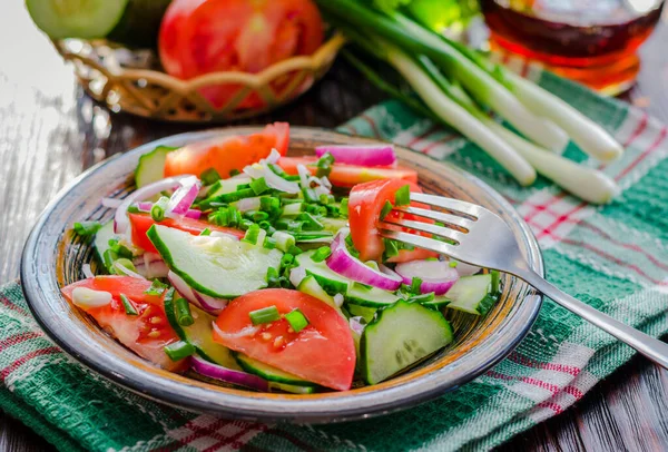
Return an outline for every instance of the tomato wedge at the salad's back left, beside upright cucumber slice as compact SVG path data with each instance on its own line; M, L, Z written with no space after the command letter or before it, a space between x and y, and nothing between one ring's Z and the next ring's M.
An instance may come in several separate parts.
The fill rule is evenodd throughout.
M281 155L285 155L288 144L287 122L271 124L258 134L194 143L167 154L165 177L181 174L199 176L214 168L220 177L227 178L233 169L240 171L244 167L267 157L274 148Z

